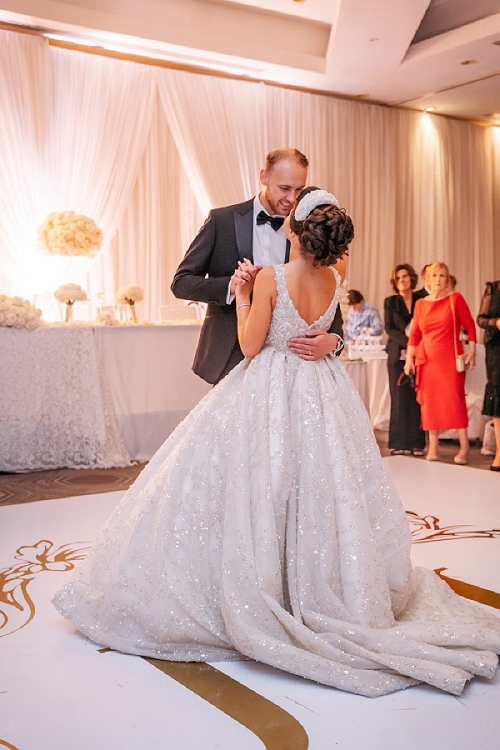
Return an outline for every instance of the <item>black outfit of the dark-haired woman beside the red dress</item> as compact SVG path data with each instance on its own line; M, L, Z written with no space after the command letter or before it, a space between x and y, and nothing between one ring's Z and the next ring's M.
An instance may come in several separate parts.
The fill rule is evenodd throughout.
M402 385L398 380L403 373L404 359L401 353L406 349L408 336L405 329L413 316L418 297L412 292L411 313L400 294L386 297L384 301L384 324L389 341L387 369L391 394L391 418L389 422L389 448L392 450L423 450L425 432L420 427L420 405L415 391L406 379Z

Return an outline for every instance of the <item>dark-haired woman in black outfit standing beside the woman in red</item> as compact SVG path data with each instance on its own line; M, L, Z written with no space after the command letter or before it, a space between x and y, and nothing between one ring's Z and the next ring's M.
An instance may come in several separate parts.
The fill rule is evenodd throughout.
M423 456L425 448L425 432L420 428L420 405L409 378L403 374L409 327L418 299L414 292L417 281L418 276L409 263L396 266L391 274L391 285L396 294L384 301L391 393L389 448L393 456L403 453Z

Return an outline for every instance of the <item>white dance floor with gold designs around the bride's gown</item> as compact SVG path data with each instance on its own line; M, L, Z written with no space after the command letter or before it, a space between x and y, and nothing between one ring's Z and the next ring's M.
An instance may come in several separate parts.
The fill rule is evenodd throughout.
M500 616L500 477L386 461L411 514L414 563L441 570ZM196 667L193 677L183 665L169 673L165 663L165 673L141 657L101 652L50 601L121 495L0 508L0 748L500 747L500 671L491 682L473 680L459 698L416 686L369 699L253 662Z

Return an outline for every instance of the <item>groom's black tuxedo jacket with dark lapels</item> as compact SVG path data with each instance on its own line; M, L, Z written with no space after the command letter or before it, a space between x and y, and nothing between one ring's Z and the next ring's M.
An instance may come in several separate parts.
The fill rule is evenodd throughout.
M238 349L236 303L226 304L229 281L238 261L253 262L253 198L215 208L191 243L177 269L171 290L179 299L208 303L193 370L216 383L233 350ZM285 263L290 245L287 243ZM330 333L343 337L342 314L337 308ZM243 354L239 350L239 359Z

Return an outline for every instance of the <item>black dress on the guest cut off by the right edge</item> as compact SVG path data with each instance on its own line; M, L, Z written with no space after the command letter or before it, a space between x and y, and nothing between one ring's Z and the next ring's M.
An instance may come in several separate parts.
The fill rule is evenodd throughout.
M500 417L500 281L488 281L481 300L477 324L484 328L484 351L488 382L484 392L483 414Z

